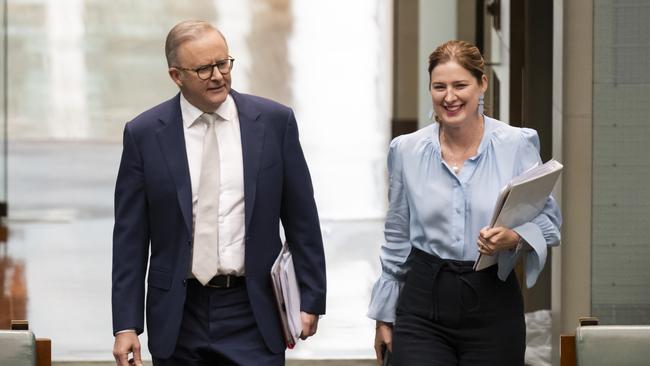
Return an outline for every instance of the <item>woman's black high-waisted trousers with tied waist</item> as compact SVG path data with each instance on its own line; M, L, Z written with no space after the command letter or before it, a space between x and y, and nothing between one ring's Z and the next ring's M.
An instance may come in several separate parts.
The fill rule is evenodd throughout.
M413 249L393 328L393 365L523 366L526 324L516 276Z

